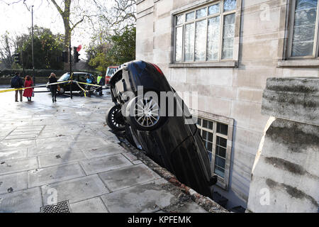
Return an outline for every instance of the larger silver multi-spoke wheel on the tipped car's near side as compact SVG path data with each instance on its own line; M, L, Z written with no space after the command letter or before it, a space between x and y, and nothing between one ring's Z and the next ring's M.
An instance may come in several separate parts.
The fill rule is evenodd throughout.
M139 131L155 131L162 126L167 117L160 116L159 103L154 99L145 99L140 96L131 99L125 113L130 126Z

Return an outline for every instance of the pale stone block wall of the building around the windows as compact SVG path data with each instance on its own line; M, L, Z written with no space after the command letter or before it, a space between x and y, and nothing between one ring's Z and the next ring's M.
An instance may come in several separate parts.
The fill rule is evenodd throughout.
M228 208L246 208L254 157L269 118L261 113L267 78L318 77L318 62L308 67L284 61L289 1L237 0L235 62L174 64L174 13L212 2L138 1L136 57L159 65L178 92L198 92L199 111L235 120L228 189L216 191L228 198Z

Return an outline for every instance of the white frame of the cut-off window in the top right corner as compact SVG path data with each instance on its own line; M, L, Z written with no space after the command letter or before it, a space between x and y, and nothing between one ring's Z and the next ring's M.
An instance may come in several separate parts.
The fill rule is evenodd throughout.
M317 18L315 23L315 37L313 43L313 55L307 56L296 56L293 57L292 54L292 43L293 43L293 26L295 24L295 11L296 11L296 0L291 0L290 9L289 9L289 28L288 28L288 46L287 46L287 57L290 60L298 60L298 59L318 59L319 58L319 2L317 5Z

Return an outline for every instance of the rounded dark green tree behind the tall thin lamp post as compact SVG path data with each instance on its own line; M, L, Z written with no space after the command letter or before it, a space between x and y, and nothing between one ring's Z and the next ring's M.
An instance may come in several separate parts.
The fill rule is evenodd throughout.
M35 69L62 70L63 63L57 62L57 57L62 55L64 36L54 35L49 28L35 26L33 38ZM32 69L32 38L29 34L18 36L17 52L23 51L23 65Z

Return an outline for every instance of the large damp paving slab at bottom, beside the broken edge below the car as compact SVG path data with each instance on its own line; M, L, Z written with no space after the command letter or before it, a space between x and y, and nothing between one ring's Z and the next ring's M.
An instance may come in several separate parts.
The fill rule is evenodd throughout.
M111 213L150 213L177 202L174 194L161 187L162 183L142 184L101 196Z

